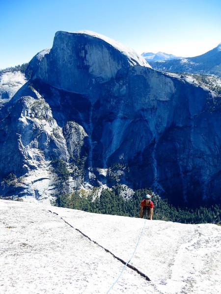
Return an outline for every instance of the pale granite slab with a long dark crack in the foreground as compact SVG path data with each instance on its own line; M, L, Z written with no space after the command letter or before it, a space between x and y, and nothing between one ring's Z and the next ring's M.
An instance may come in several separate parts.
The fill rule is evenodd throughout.
M0 220L2 294L220 291L221 227L214 224L5 200Z

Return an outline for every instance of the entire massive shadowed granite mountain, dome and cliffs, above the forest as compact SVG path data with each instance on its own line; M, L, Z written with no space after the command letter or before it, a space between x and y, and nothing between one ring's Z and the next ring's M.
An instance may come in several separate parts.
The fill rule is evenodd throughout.
M71 172L69 191L119 182L176 203L221 200L220 102L193 79L157 72L85 31L57 32L28 71L0 122L2 178L24 175L21 195L56 194L51 164L59 157Z

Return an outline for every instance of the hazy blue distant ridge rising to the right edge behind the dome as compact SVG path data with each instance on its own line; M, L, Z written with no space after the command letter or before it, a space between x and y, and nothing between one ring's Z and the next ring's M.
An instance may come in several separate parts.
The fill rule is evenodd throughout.
M221 43L216 48L199 56L162 61L150 60L148 62L153 69L164 72L221 76Z

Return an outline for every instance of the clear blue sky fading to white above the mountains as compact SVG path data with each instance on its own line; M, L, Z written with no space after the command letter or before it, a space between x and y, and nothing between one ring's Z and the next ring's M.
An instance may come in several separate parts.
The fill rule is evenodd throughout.
M0 0L0 69L91 30L138 53L203 54L221 43L221 0Z

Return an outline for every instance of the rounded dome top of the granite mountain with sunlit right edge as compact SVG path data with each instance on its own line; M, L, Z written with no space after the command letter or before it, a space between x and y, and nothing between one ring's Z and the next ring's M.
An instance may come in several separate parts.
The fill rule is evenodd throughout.
M151 68L133 49L91 31L56 32L53 48L41 52L37 58L39 69L33 77L67 91L86 91L93 76L106 82L122 68L137 65ZM49 74L52 68L59 74ZM76 88L76 80L80 81L81 89Z

